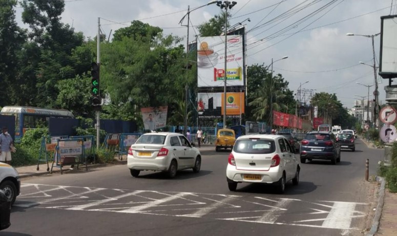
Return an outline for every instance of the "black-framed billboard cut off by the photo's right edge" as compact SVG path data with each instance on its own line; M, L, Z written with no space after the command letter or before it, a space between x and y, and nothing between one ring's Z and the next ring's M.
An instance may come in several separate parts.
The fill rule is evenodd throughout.
M397 15L381 16L381 47L379 75L384 79L397 77ZM394 64L391 65L390 64Z

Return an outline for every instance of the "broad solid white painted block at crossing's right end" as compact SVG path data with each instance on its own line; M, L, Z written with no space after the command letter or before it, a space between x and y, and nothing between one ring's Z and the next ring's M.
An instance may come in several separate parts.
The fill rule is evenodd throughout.
M350 227L351 219L354 217L356 203L334 202L331 211L323 222L323 227L347 229Z

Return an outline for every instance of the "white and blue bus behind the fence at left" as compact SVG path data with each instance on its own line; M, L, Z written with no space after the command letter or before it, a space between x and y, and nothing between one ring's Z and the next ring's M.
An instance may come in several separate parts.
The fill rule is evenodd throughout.
M32 108L30 106L4 106L1 115L15 116L15 142L19 143L26 130L36 128L38 124L48 126L50 117L74 118L68 110Z

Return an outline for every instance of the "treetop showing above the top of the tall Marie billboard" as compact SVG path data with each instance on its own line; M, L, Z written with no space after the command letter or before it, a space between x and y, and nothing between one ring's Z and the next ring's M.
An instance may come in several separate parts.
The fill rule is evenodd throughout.
M222 11L220 15L215 15L213 18L208 20L208 22L203 23L198 26L198 30L200 32L200 36L218 36L221 35L225 31L225 11ZM227 18L231 17L232 14L227 12ZM227 28L230 26L229 21L227 20Z

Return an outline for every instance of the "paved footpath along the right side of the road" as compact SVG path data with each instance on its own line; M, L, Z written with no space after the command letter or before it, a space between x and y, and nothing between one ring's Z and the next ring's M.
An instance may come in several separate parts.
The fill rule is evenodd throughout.
M361 139L368 148L376 148L371 142ZM397 235L397 194L389 192L382 179L378 192L379 201L373 224L367 235L396 236ZM378 227L378 230L376 230Z

